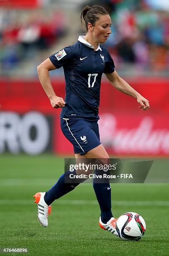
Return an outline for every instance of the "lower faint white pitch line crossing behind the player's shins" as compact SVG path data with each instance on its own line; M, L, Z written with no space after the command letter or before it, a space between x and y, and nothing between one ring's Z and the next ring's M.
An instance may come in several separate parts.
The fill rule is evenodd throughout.
M33 200L0 200L0 205L33 205ZM57 200L56 205L97 205L96 200ZM117 206L169 206L169 201L112 201Z

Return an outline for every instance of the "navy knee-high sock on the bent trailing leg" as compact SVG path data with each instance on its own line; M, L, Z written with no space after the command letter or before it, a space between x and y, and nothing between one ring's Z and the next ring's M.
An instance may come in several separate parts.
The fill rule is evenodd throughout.
M45 193L44 200L47 205L51 205L54 200L62 197L63 195L66 195L67 193L75 189L75 187L77 187L80 183L82 183L82 180L79 181L80 183L75 183L76 180L70 178L70 174L76 175L76 171L69 171L62 174L58 179L57 183ZM67 183L65 183L65 179Z

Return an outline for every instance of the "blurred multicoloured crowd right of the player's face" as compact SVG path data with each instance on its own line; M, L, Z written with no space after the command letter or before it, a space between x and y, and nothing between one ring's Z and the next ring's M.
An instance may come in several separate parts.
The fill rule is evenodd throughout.
M169 10L153 10L144 0L112 2L107 46L117 65L133 63L154 71L169 68Z

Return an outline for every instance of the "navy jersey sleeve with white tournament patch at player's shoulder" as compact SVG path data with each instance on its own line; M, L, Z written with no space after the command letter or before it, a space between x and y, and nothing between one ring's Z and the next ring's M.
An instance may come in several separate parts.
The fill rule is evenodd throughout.
M59 69L60 67L67 65L72 60L72 57L73 49L71 46L67 46L56 54L52 54L49 58L52 64Z

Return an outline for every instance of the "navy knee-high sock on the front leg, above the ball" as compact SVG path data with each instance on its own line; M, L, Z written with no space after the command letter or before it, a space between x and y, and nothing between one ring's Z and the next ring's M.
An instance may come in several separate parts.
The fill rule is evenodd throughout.
M103 171L95 171L95 174L103 174ZM101 210L101 220L103 223L107 223L112 215L112 203L111 203L111 188L109 179L102 179L104 183L98 183L99 180L97 178L93 179L93 188L97 197L97 201Z

